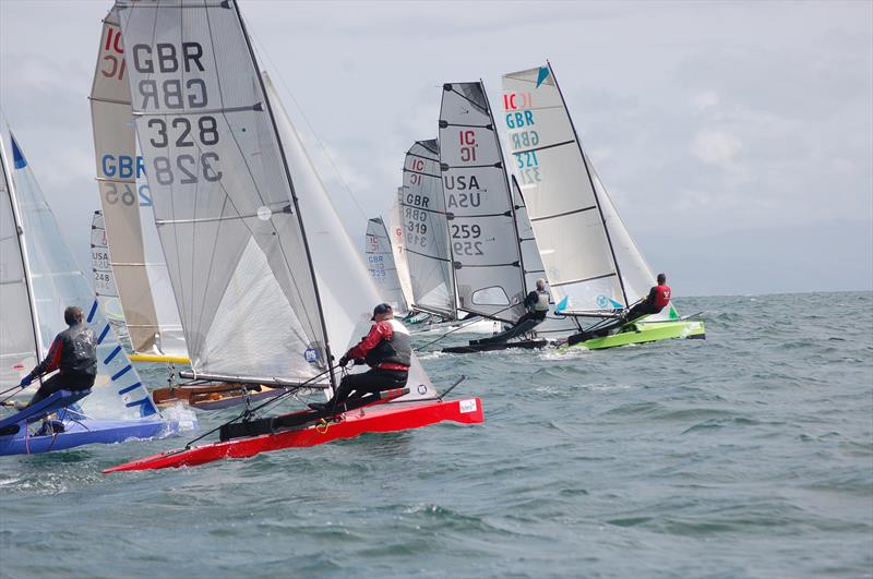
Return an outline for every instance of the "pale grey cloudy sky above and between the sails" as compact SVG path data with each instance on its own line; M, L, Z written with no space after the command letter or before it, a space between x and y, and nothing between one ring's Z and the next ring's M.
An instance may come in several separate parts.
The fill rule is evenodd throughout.
M88 107L111 2L0 0L0 108L88 266ZM873 2L241 0L340 217L387 215L445 82L549 59L674 294L873 289Z

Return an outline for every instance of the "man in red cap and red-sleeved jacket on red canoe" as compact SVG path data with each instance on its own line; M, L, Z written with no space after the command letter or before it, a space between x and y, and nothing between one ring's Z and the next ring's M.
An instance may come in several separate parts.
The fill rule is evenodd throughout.
M349 398L406 386L412 358L409 331L394 318L394 311L387 303L376 305L371 319L375 324L370 333L339 359L340 366L354 360L356 364L366 363L370 370L346 375L333 398L309 405L313 410L333 410ZM352 391L355 395L350 396Z

